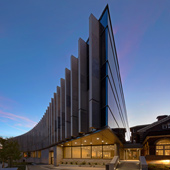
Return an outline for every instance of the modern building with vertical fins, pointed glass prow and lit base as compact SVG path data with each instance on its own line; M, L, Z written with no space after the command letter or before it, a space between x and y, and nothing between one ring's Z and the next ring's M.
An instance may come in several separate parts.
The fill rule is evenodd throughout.
M130 138L125 99L109 8L89 17L89 38L78 40L45 114L29 132L16 137L26 161L108 162L125 159ZM102 161L101 161L102 160Z

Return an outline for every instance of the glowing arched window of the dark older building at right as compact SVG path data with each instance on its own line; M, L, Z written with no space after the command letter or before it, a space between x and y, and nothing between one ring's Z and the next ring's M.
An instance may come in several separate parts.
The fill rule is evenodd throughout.
M169 139L162 139L156 143L156 155L170 155Z

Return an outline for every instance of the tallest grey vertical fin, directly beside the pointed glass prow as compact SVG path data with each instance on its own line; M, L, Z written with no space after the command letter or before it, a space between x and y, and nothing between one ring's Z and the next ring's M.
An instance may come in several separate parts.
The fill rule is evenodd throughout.
M101 127L99 21L89 17L89 127Z

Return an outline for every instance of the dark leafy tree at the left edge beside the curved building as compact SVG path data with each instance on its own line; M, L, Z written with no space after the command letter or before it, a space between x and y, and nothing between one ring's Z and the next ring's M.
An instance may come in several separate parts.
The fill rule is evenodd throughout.
M19 144L13 138L3 139L0 137L0 143L2 149L0 150L0 159L3 164L8 161L8 166L11 167L13 161L21 159L21 152L19 149Z

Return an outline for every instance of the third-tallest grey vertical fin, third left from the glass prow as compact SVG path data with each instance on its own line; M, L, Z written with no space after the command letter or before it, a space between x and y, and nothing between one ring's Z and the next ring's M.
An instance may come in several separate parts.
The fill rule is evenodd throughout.
M78 59L71 56L71 136L78 136Z

